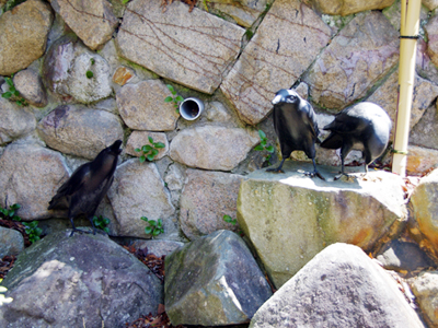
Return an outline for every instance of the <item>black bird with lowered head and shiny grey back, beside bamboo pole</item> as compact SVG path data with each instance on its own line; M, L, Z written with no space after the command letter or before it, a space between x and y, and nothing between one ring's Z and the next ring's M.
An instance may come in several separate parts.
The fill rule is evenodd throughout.
M391 126L387 112L369 102L353 105L336 114L334 121L323 128L331 133L321 143L322 148L341 148L342 172L335 179L348 176L344 171L344 161L353 149L362 151L367 175L368 165L387 149Z

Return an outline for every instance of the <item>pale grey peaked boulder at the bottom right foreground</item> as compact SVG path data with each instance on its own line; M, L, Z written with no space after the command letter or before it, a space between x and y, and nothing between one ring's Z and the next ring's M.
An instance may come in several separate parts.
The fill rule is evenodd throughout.
M261 327L425 327L399 286L359 247L328 246L254 315Z

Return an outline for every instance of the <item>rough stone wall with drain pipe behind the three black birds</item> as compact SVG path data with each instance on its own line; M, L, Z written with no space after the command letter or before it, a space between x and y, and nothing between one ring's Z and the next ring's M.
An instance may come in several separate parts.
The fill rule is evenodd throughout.
M235 230L222 218L235 218L244 176L268 164L254 147L258 129L276 145L276 91L297 87L320 126L364 99L395 119L400 1L216 0L191 10L181 1L27 0L8 10L12 2L0 1L0 93L13 74L21 96L0 98L0 206L20 203L26 221L64 218L47 210L57 188L122 139L96 213L111 219L112 235L150 237L141 216L162 219L166 239ZM438 162L438 3L423 2L411 175ZM200 98L203 115L180 117L164 102L166 84ZM135 149L149 137L164 148L140 163ZM316 161L339 165L330 150L318 149Z

